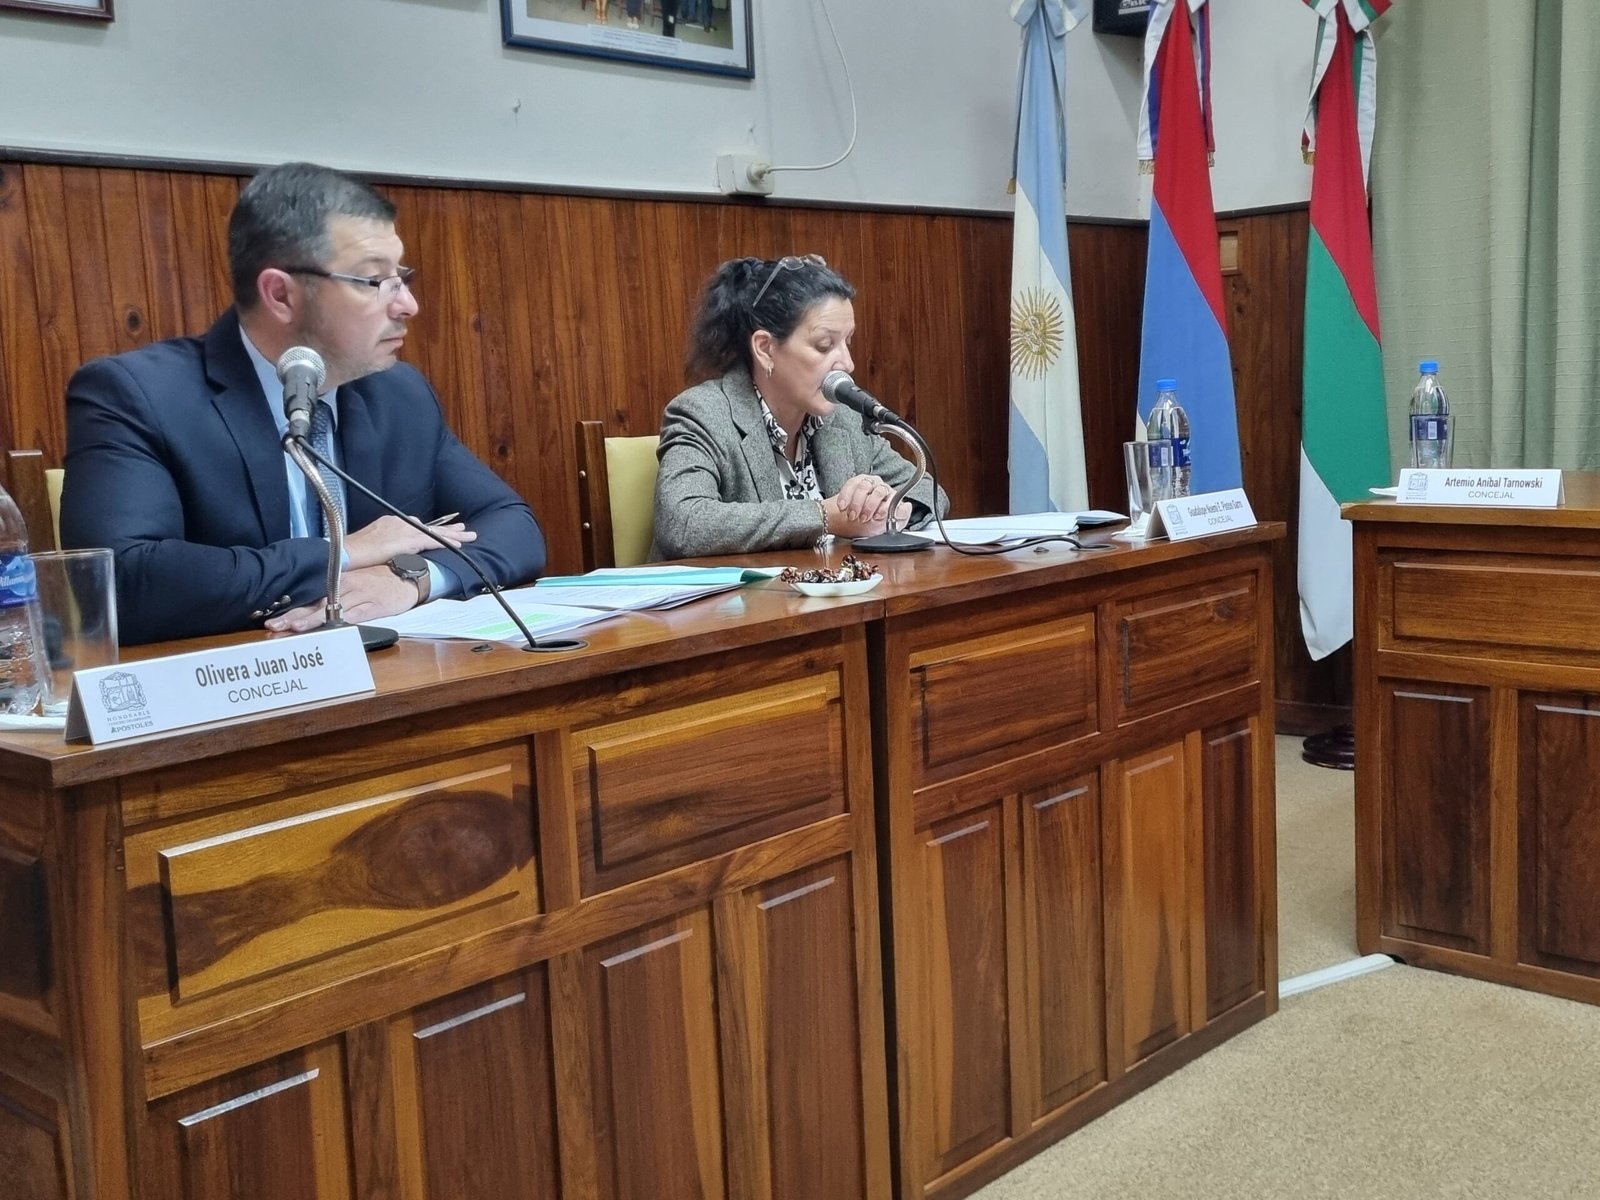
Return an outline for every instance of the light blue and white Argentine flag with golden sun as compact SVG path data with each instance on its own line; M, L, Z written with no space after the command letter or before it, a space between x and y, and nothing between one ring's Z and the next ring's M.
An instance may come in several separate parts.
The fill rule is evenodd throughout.
M1022 26L1011 240L1011 512L1086 509L1067 274L1066 35L1088 0L1013 0Z

